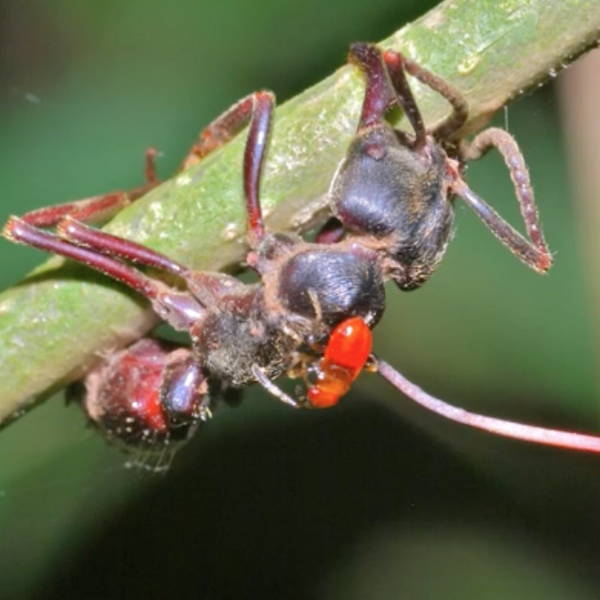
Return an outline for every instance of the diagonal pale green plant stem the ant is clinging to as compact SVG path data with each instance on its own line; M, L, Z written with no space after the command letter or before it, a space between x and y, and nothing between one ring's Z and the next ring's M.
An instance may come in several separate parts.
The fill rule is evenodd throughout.
M467 97L465 133L596 43L597 0L453 0L381 43ZM414 83L414 82L413 82ZM269 227L306 230L356 127L364 83L344 66L277 109L262 201ZM448 106L414 85L426 122ZM197 269L244 255L245 135L122 211L107 227ZM14 248L18 252L18 248ZM85 267L53 258L0 296L0 425L80 377L97 357L147 333L147 304Z

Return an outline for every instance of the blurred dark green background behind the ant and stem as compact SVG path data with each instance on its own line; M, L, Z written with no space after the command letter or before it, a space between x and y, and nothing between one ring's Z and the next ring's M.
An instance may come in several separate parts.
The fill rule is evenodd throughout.
M416 0L5 0L0 221L170 173L238 98L285 100L430 5ZM390 289L376 348L426 389L598 431L594 313L554 89L499 116L531 169L556 266L538 277L462 207L422 290ZM471 186L517 223L497 157ZM42 255L0 241L0 287ZM9 375L9 374L8 374ZM6 376L4 374L3 376ZM600 593L600 463L441 421L364 376L336 410L260 392L165 476L54 398L0 435L0 598L527 598Z

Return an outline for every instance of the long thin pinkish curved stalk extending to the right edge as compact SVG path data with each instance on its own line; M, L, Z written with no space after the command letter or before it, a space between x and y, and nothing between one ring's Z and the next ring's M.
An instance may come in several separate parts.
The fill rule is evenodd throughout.
M525 442L600 453L600 437L557 429L546 429L544 427L535 427L534 425L524 425L523 423L504 421L468 412L429 395L385 361L377 358L375 359L375 364L380 375L405 396L424 408L451 421Z

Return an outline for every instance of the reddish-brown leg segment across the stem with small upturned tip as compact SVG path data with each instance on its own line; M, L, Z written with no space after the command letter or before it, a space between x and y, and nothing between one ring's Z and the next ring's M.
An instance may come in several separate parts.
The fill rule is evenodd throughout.
M128 204L131 204L159 184L155 166L156 155L155 148L146 150L146 183L144 185L129 192L110 192L101 196L92 196L91 198L47 206L24 214L22 219L29 225L44 228L54 227L66 216L72 216L79 221L88 223L108 221Z

